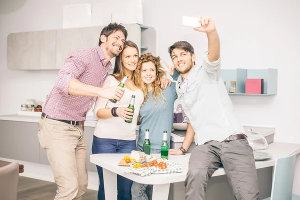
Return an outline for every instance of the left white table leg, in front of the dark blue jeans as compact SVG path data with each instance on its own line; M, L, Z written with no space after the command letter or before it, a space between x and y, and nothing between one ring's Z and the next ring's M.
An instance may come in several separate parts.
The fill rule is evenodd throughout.
M116 173L103 169L105 199L117 199ZM155 198L153 198L155 199Z

